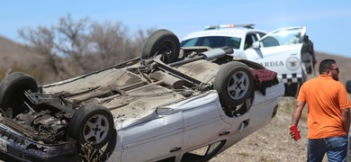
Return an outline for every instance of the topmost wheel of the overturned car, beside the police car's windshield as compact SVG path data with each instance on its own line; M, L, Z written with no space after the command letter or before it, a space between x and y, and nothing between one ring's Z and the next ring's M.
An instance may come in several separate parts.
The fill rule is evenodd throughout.
M179 57L180 44L178 38L172 31L158 30L152 33L142 49L141 58L151 58L162 55L161 60L172 63Z

